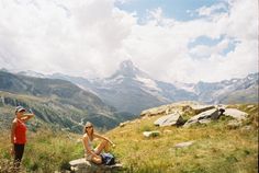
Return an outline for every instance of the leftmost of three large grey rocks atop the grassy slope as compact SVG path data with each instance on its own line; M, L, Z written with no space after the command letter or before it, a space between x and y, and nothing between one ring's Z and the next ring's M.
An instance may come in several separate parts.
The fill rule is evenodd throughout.
M178 125L178 124L181 124L182 122L183 122L182 116L179 113L173 113L173 114L166 115L166 116L158 118L154 123L154 125L164 127L164 126Z

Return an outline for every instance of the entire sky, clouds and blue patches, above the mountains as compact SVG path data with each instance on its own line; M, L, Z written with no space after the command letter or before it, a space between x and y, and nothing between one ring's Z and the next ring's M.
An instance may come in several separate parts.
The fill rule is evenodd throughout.
M215 82L258 72L257 0L0 0L0 68Z

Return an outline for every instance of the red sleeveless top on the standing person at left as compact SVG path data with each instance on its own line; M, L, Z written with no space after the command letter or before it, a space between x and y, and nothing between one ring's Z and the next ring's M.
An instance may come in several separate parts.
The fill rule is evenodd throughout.
M18 119L16 128L14 131L14 143L24 145L26 142L26 125Z

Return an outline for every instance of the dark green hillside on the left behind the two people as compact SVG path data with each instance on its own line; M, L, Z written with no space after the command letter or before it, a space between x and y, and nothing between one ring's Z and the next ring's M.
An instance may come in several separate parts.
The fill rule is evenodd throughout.
M0 96L1 117L7 117L16 105L22 105L31 107L43 123L78 132L86 120L93 122L98 127L111 128L132 116L117 113L93 93L59 79L33 78L0 71ZM11 116L13 117L9 114L8 118Z

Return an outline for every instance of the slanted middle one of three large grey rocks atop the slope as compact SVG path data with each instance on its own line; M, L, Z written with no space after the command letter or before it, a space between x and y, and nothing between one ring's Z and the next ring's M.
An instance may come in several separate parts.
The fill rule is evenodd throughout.
M200 113L193 117L191 117L184 125L183 127L189 127L192 124L196 123L204 123L204 119L218 119L221 116L221 113L218 112L217 108L209 109L203 113Z

